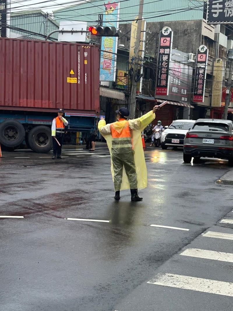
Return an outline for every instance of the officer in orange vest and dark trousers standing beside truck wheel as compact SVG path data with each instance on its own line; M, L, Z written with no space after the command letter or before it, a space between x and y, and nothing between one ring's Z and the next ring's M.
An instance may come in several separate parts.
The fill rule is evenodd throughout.
M65 133L65 126L68 125L68 121L65 118L63 118L63 113L64 113L63 109L58 109L57 118L54 118L52 123L53 160L56 158L56 155L57 159L62 159L61 157L62 143ZM58 145L57 141L61 146Z

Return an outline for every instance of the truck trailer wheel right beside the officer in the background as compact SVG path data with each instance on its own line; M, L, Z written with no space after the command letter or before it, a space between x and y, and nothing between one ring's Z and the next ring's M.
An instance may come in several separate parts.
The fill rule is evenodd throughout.
M36 126L28 133L28 144L35 152L49 152L53 148L51 129L44 125Z

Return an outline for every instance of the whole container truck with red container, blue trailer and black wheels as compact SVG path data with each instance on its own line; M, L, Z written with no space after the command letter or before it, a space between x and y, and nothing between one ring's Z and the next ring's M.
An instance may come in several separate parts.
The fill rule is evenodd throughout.
M51 125L65 110L66 132L89 132L99 114L99 48L0 38L0 144L52 149Z

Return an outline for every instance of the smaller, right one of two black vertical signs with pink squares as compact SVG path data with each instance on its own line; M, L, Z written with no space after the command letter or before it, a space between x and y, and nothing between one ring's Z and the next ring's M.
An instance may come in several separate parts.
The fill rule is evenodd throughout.
M201 45L197 50L196 71L194 80L193 101L196 103L204 102L207 60L208 49L205 45Z

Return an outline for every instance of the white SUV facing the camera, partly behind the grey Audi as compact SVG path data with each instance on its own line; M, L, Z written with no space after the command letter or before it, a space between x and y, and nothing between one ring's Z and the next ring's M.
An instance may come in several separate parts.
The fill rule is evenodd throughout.
M195 120L176 120L169 127L165 127L161 137L162 149L168 146L183 147L186 133L193 127Z

